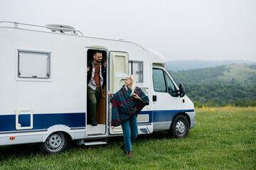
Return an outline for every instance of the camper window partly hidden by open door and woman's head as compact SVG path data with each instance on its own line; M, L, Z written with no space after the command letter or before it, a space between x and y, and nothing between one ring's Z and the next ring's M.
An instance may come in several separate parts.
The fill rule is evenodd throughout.
M134 75L137 83L143 83L143 62L129 61L129 74Z

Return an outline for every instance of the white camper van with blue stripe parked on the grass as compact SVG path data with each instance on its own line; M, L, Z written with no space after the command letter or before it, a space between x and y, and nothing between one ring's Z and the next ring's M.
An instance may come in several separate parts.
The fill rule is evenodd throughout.
M87 62L94 50L107 61L97 102L97 126L88 119ZM138 132L169 131L186 137L195 125L192 101L164 69L166 58L125 40L92 38L71 26L0 22L0 146L38 143L41 152L78 145L107 144L122 135L111 125L111 102L133 74L149 105L137 115Z

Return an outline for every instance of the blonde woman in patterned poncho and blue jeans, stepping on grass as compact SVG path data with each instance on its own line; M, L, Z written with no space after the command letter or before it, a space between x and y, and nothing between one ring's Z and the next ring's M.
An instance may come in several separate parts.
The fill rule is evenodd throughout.
M120 148L128 154L129 159L132 158L132 142L138 135L137 115L144 106L149 105L148 96L135 85L135 77L129 75L116 94L107 93L112 97L112 125L122 125L124 144Z

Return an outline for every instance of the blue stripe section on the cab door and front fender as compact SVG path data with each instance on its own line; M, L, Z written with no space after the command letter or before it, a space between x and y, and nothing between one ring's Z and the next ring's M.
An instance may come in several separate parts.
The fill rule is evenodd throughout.
M189 110L168 110L168 111L153 111L153 122L168 122L172 121L174 116L178 113L193 112L193 109Z

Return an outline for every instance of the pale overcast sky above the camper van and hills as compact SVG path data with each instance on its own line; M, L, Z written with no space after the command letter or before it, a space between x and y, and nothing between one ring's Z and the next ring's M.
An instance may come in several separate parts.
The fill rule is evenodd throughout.
M255 0L0 0L0 21L73 26L167 60L256 61Z

